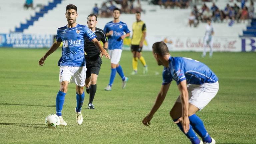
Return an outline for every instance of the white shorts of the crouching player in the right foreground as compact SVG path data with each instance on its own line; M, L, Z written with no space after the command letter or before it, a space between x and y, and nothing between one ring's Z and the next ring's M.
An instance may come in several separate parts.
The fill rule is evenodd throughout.
M202 110L217 94L219 90L219 82L204 83L201 85L188 84L189 103ZM176 102L181 103L180 96Z

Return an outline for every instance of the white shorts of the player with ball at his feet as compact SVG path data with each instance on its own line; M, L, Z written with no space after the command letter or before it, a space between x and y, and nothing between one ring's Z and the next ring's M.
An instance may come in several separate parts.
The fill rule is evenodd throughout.
M83 87L85 84L86 67L78 66L60 66L59 79L60 82L68 81L75 83L77 86Z

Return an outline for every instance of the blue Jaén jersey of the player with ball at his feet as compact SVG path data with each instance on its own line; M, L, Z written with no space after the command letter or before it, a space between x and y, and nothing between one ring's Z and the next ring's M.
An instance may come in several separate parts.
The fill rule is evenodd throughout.
M92 40L97 36L84 25L77 24L76 27L67 26L58 28L56 40L63 42L62 57L59 66L85 66L84 38Z

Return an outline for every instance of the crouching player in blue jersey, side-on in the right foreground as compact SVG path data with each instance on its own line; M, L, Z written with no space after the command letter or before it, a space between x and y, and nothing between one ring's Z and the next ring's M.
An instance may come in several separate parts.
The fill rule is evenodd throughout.
M173 121L192 144L215 144L215 140L207 133L203 121L195 113L202 110L217 94L218 77L208 66L199 61L170 56L164 42L153 44L153 55L158 65L164 66L163 83L154 106L142 123L149 126L150 120L163 103L171 81L174 79L181 94L170 111Z

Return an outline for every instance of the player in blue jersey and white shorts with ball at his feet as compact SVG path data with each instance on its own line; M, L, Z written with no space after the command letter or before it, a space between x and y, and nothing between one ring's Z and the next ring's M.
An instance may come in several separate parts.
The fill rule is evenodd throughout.
M83 117L81 113L83 101L84 101L84 85L85 85L85 57L84 57L84 38L88 38L92 41L95 46L101 51L102 55L106 58L110 58L108 53L103 49L100 42L96 39L96 35L84 25L79 25L76 23L77 7L75 5L67 5L66 7L66 18L68 24L64 27L58 28L56 41L53 43L51 48L46 52L46 54L39 60L39 65L43 66L46 58L58 49L61 42L62 46L62 56L59 60L60 66L60 90L56 96L56 114L60 118L60 126L66 126L67 123L62 118L62 107L64 104L65 95L68 91L68 84L71 79L71 83L76 84L76 101L77 106L75 108L76 112L76 122L81 125L83 122Z

